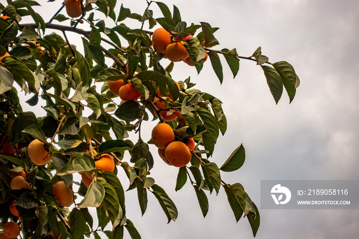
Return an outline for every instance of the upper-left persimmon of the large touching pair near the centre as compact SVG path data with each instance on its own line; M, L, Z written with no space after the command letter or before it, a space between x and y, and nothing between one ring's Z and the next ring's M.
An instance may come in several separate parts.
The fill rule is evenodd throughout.
M174 132L171 126L160 123L152 129L152 142L159 149L165 149L174 141Z

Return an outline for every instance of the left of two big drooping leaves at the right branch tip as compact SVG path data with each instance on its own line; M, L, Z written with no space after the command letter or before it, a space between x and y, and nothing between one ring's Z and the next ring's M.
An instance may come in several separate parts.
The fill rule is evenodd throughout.
M281 75L272 67L261 66L264 75L267 78L267 83L270 89L270 92L273 95L275 104L278 104L283 92L283 82Z

